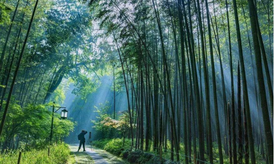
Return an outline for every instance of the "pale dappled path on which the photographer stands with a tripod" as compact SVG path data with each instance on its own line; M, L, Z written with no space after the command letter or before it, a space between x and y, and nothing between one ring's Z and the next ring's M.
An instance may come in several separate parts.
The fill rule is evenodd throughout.
M86 147L86 152L83 149L78 150L78 144L70 144L70 150L74 154L75 164L126 164L122 159L113 156L112 154L90 146Z

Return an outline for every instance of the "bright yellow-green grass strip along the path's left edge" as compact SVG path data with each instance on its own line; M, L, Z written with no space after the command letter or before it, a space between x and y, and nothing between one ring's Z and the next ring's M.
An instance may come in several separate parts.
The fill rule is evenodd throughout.
M17 163L19 151L0 155L0 164ZM20 164L66 164L70 156L68 145L59 144L50 147L50 155L47 156L47 148L32 149L22 152Z

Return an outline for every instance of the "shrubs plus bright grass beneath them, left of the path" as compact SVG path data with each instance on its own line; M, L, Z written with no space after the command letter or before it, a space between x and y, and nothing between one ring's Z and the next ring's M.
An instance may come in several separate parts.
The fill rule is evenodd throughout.
M73 131L75 122L60 119L54 115L52 146L49 134L52 113L45 105L28 104L21 107L11 104L1 138L0 164L17 164L19 152L22 152L20 164L66 164L70 150L63 140ZM4 139L5 138L5 139ZM49 156L48 156L49 146Z

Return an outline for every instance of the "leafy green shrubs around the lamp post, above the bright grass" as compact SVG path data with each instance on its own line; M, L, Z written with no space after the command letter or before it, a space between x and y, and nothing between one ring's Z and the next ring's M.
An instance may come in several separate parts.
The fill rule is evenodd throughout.
M5 120L3 136L5 149L13 149L9 143L11 140L20 143L18 147L28 150L32 147L40 147L38 143L46 145L51 127L51 112L45 105L28 104L21 107L16 103L9 105L8 113ZM60 139L69 135L73 131L75 123L71 120L61 120L59 114L54 115L53 137Z

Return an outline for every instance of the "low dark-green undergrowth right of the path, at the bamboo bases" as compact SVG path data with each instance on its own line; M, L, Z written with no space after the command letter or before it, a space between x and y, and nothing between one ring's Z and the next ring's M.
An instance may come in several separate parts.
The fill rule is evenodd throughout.
M136 140L134 140L136 142ZM125 144L123 146L123 138L105 138L100 139L92 142L92 146L103 149L115 156L118 156L122 158L123 160L131 163L131 164L159 164L160 158L159 158L159 149L153 149L153 141L150 143L150 147L148 151L140 151L134 146L133 151L131 151L131 139L126 138ZM167 140L167 149L163 150L163 163L164 164L173 164L170 159L170 150L171 150L171 144L170 140ZM180 156L182 156L181 162L184 164L183 159L183 150L184 146L183 143L180 144ZM175 152L174 152L175 153ZM214 163L219 162L218 158L218 145L217 143L213 143L213 159ZM256 157L258 159L258 164L263 164L264 159L260 158L260 154L256 152ZM206 159L208 159L208 156L206 156ZM193 157L192 157L193 160ZM193 161L192 161L193 162ZM229 158L228 156L224 156L224 164L229 164Z

